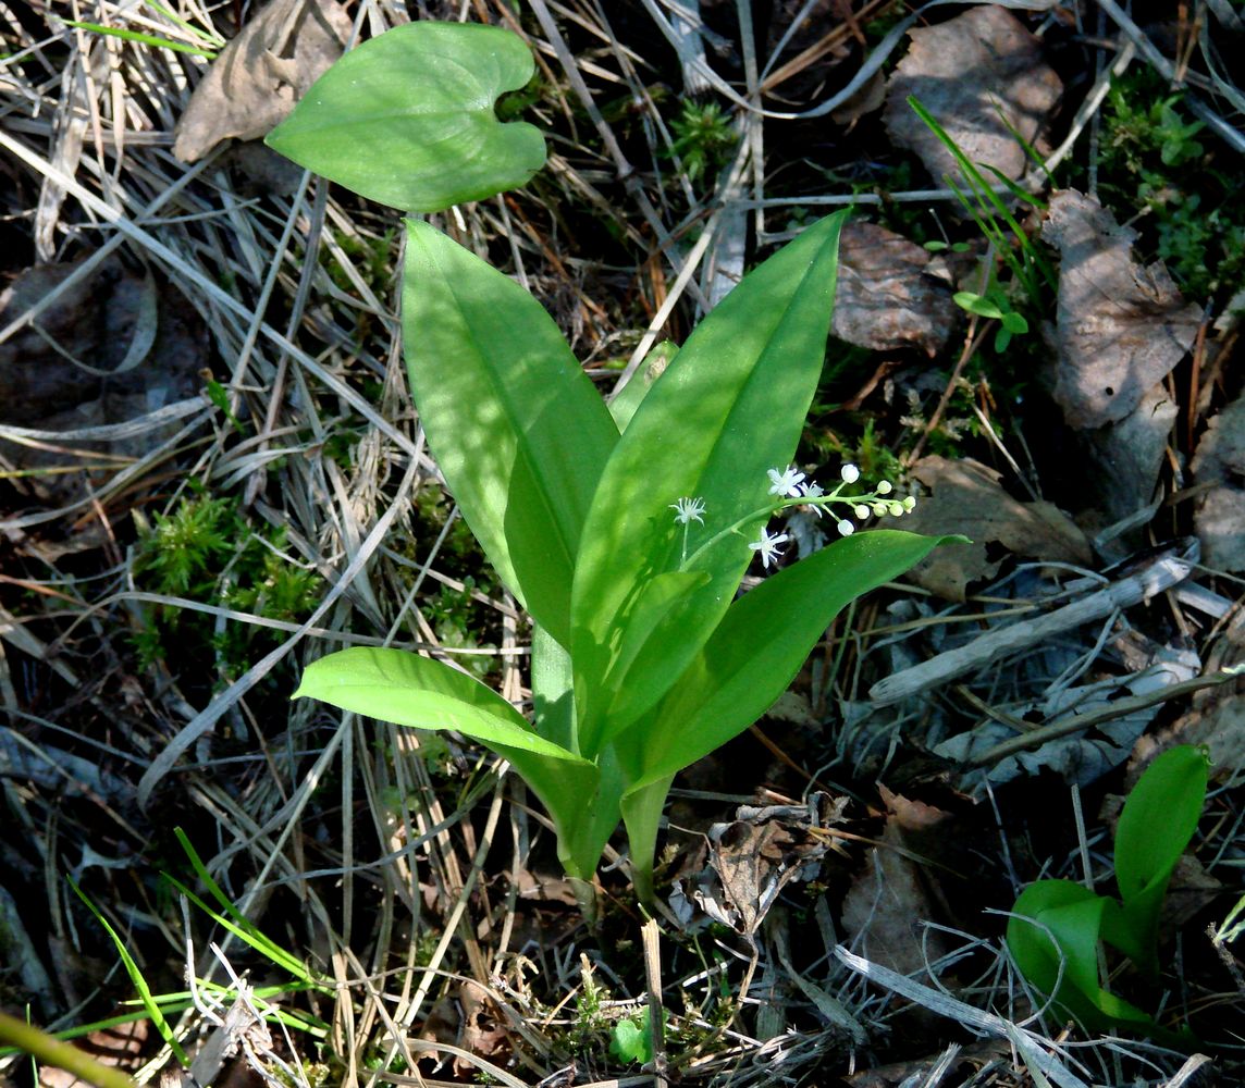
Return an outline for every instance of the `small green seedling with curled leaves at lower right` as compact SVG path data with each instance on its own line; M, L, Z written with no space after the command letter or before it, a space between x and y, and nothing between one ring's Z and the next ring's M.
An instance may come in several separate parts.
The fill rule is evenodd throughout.
M1101 942L1144 973L1158 973L1159 911L1177 861L1206 799L1206 756L1183 744L1159 756L1138 779L1116 830L1119 899L1071 880L1040 880L1021 893L1007 924L1007 947L1025 977L1087 1029L1129 1027L1170 1037L1134 1005L1106 990Z

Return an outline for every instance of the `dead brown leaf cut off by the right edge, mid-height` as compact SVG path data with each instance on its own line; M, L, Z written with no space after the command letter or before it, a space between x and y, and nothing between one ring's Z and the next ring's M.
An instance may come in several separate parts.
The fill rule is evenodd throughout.
M1218 570L1245 570L1245 395L1210 421L1191 468L1198 483L1211 484L1194 515L1203 561Z

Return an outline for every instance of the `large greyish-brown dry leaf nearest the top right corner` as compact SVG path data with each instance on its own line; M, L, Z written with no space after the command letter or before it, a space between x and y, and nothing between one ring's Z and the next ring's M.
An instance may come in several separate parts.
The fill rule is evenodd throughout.
M1017 136L1032 144L1063 92L1038 40L994 5L909 36L886 92L886 129L895 143L915 152L935 178L960 181L951 152L909 107L908 96L915 95L971 162L1021 177L1027 156Z

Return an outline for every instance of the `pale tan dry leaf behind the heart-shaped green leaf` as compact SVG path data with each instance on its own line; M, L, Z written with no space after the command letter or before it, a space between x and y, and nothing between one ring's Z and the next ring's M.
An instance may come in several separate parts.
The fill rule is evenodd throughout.
M273 0L194 88L173 154L195 162L222 141L266 136L341 56L350 30L336 0Z

